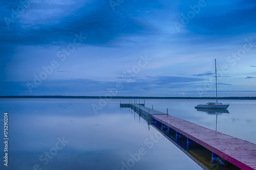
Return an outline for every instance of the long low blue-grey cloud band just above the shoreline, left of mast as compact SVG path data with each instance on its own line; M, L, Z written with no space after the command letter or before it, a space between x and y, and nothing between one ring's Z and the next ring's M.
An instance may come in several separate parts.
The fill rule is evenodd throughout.
M156 90L159 88L180 88L188 86L188 83L202 81L203 79L186 78L186 77L147 77L136 79L121 79L123 88L120 91L139 91L139 90ZM108 88L115 88L117 82L95 81L92 79L68 79L68 80L48 80L43 81L37 88L32 89L30 93L28 82L19 81L1 82L0 88L6 89L0 95L87 95L95 93L95 95L104 95ZM33 83L33 82L30 82Z

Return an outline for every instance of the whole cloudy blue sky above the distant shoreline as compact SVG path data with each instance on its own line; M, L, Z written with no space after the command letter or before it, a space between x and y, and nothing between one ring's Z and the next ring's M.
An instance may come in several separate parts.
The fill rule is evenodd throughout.
M1 1L0 95L256 96L254 0Z

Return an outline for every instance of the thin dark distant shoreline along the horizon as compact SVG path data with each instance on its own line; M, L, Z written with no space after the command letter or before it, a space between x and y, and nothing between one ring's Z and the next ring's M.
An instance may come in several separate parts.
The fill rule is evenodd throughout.
M153 96L68 96L68 95L6 95L1 99L209 99L214 97L153 97ZM256 100L256 96L249 97L220 97L220 100Z

